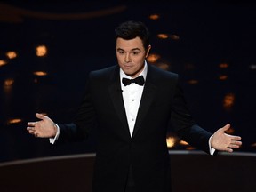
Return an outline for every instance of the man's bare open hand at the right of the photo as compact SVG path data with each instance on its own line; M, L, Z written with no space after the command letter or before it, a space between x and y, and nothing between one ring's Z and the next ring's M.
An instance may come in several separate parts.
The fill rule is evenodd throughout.
M226 124L224 127L213 133L211 140L212 148L231 153L233 152L233 148L241 147L241 137L225 133L229 128L230 124Z

